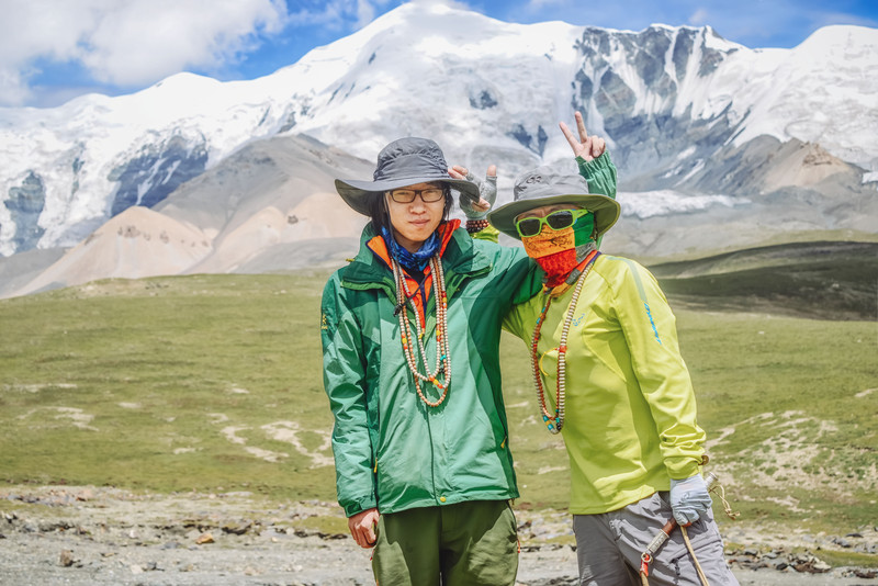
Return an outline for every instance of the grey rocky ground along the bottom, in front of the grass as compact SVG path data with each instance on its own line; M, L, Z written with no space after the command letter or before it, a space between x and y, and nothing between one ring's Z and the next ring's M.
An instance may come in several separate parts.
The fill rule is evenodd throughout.
M565 514L518 511L521 586L575 584ZM335 504L268 504L249 493L144 495L115 488L0 489L0 585L367 585L369 552ZM777 533L735 523L742 585L878 586L875 570L830 567L821 551L878 555L878 529ZM802 553L807 548L809 551ZM799 553L792 553L796 549ZM875 564L873 564L875 565Z

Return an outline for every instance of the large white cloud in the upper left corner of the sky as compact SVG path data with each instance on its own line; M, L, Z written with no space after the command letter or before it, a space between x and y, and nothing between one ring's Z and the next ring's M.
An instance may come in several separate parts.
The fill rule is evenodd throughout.
M78 61L94 79L150 83L187 67L218 68L279 32L283 0L7 0L0 103L30 95L34 61Z

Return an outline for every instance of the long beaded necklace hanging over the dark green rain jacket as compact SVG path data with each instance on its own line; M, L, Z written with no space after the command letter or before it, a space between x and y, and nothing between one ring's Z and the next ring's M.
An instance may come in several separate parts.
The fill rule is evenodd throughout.
M431 374L421 373L418 371L417 361L413 351L412 340L416 340L420 353L421 362L424 363L425 371L427 370L427 351L424 348L424 324L420 323L420 314L417 307L412 302L412 292L408 290L408 283L403 275L403 270L395 258L392 258L393 278L396 282L396 315L399 319L399 331L403 339L403 353L405 354L408 370L415 376L415 388L417 388L420 399L430 407L438 407L442 404L448 395L448 386L451 384L451 352L448 346L448 296L446 294L446 275L442 271L442 261L439 255L430 257L430 267L434 274L434 286L436 291L436 370ZM415 314L415 331L412 335L412 325L408 320L408 312L406 305L410 305ZM443 373L444 382L439 382L437 376ZM438 401L431 402L420 390L420 381L432 383L432 385L442 391L442 396Z

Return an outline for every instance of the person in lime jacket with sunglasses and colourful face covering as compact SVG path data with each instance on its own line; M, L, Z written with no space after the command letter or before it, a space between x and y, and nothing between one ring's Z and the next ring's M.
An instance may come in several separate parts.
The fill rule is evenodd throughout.
M653 585L700 585L688 534L710 584L736 585L701 477L705 432L674 315L646 269L597 249L619 213L582 177L543 167L488 214L545 273L542 293L504 327L528 343L540 415L564 438L579 583L637 586L644 571ZM688 529L644 567L642 553L672 517Z

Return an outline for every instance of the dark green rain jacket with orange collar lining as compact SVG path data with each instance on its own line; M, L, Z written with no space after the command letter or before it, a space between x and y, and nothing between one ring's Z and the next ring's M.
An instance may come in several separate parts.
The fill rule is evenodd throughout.
M579 167L590 191L616 194L609 155ZM335 417L338 502L348 517L373 507L395 512L518 496L500 391L499 338L514 304L540 291L542 272L520 247L497 245L496 230L480 233L494 239L486 241L453 229L457 225L440 226L452 381L439 407L428 407L415 391L393 313L393 273L371 225L357 258L324 289L324 387ZM435 298L425 288L414 301L425 306L431 371ZM430 401L439 397L428 385L421 388Z

